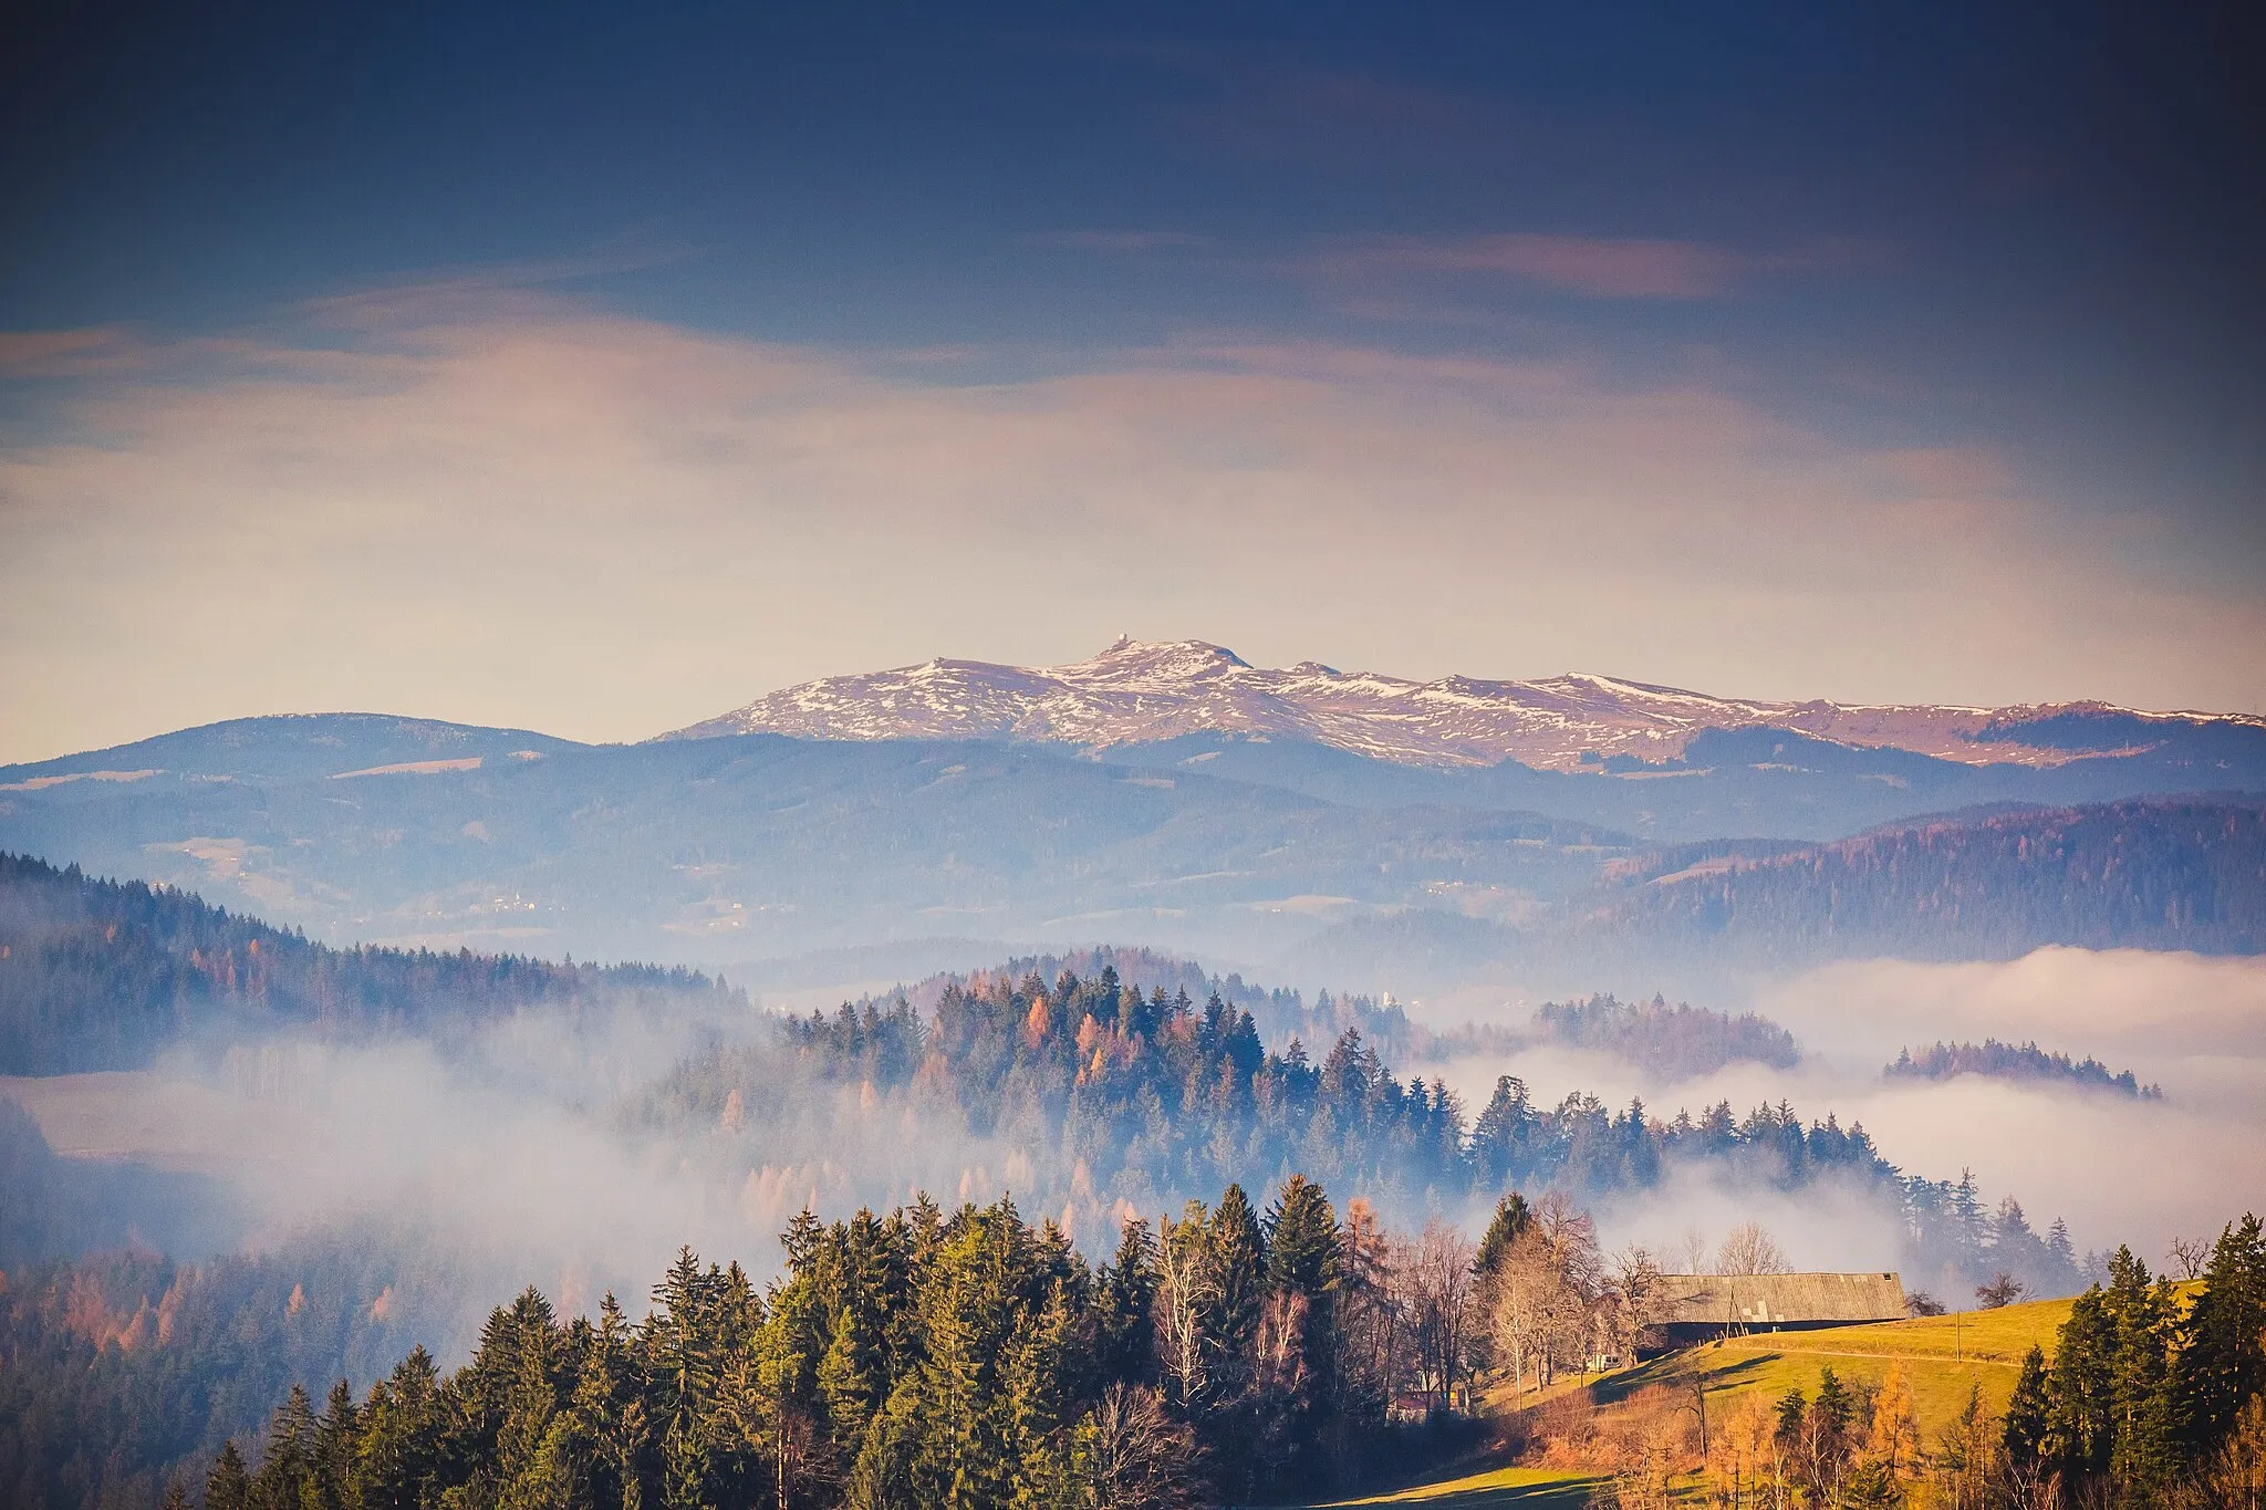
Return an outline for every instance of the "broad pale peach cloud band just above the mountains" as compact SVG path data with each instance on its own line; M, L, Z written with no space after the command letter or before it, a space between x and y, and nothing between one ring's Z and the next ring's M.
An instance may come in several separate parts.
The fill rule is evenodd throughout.
M641 738L1122 629L1754 695L2266 681L2257 602L2062 527L1990 453L1917 464L1688 374L1190 335L977 380L449 281L301 321L145 340L0 451L0 758L335 706Z

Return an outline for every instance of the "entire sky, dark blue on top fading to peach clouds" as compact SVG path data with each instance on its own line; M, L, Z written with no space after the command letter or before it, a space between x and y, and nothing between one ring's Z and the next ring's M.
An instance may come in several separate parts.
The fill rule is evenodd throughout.
M0 20L0 761L1117 634L2266 711L2203 7Z

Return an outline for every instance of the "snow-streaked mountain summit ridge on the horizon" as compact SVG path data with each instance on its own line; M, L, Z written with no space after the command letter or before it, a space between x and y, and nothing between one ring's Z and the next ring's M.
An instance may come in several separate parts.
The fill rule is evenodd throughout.
M2266 720L2135 713L2098 702L2014 709L1747 702L1570 672L1539 681L1407 681L1319 661L1251 666L1206 641L1119 638L1072 666L925 661L804 681L662 738L791 733L823 740L1042 740L1108 749L1187 733L1301 738L1403 765L1672 770L1706 729L1792 729L1856 747L1908 749L1967 765L2062 765L2141 754Z

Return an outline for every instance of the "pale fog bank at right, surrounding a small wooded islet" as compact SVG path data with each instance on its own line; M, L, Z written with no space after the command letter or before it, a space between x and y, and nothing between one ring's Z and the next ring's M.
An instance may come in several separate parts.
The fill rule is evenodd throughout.
M1971 1168L1990 1202L2019 1198L2037 1229L2062 1216L2080 1252L2132 1243L2153 1266L2173 1236L2216 1234L2227 1218L2266 1207L2266 960L2039 949L2012 962L1845 962L1767 985L1740 1005L1790 1028L1801 1064L1736 1064L1661 1084L1616 1057L1545 1046L1520 1053L1511 1073L1543 1105L1586 1089L1613 1107L1643 1096L1654 1116L1679 1107L1697 1116L1718 1100L1740 1116L1781 1098L1804 1116L1831 1109L1845 1125L1863 1123L1910 1175L1956 1179ZM2135 1071L2141 1084L2162 1084L2166 1098L1980 1075L1881 1075L1906 1046L1985 1037L2092 1055L2112 1071ZM1502 1069L1480 1055L1439 1073L1475 1107ZM1679 1191L1663 1204L1659 1213L1622 1211L1611 1225L1672 1250L1724 1202ZM1797 1266L1881 1261L1885 1247L1869 1218L1820 1211L1808 1193L1783 1204L1758 1216Z

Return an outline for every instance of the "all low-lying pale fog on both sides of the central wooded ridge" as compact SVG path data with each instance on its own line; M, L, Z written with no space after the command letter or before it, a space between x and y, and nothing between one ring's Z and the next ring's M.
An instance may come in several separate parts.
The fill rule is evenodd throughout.
M1500 1073L1520 1075L1541 1105L1584 1089L1613 1107L1643 1096L1654 1116L1715 1100L1745 1114L1783 1098L1804 1116L1863 1123L1906 1173L1956 1179L1971 1168L1987 1202L2017 1195L2037 1229L2067 1218L2080 1252L2130 1241L2150 1263L2173 1236L2216 1234L2266 1207L2261 960L2046 949L2005 964L1835 964L1770 985L1752 1005L1795 1030L1799 1066L1661 1084L1600 1053L1532 1048L1394 1069L1443 1075L1468 1116ZM682 1055L755 1028L732 1016L530 1016L446 1053L276 1041L218 1064L184 1055L145 1073L0 1091L32 1109L59 1152L227 1177L252 1247L358 1213L437 1234L467 1315L530 1281L566 1309L605 1288L637 1297L680 1243L768 1272L777 1232L807 1200L845 1213L915 1186L945 1204L1033 1189L1017 1150L954 1136L945 1121L857 1087L782 1087L773 1107L748 1112L757 1121L739 1132L752 1141L641 1130L639 1098ZM1903 1046L1983 1037L2096 1055L2159 1082L2166 1100L1881 1078ZM1097 1256L1115 1238L1097 1200L1067 1216ZM1602 1216L1611 1243L1643 1241L1668 1259L1749 1218L1801 1268L1890 1268L1897 1254L1892 1216L1831 1186L1727 1193L1684 1170Z

